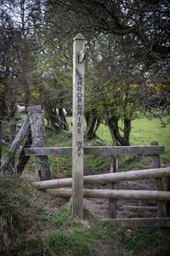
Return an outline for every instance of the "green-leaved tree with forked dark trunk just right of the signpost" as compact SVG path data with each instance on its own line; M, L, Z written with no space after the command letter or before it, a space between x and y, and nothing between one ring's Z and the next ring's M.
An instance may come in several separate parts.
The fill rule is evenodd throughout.
M131 121L138 117L136 109L141 109L141 88L134 83L142 78L143 58L138 58L136 65L133 38L128 36L131 51L124 40L127 38L100 35L88 45L88 77L92 84L87 96L88 102L92 102L88 109L98 109L98 115L111 131L113 143L118 145L129 145Z

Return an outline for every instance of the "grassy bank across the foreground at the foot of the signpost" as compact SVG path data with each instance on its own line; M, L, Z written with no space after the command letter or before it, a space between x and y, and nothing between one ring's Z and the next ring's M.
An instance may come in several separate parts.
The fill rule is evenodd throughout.
M0 255L153 255L170 253L170 229L125 229L102 224L84 209L74 218L71 202L38 192L31 181L0 179Z

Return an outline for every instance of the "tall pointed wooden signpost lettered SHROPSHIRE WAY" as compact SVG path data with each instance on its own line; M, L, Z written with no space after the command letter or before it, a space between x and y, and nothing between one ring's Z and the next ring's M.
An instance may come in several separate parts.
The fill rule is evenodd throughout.
M84 44L85 38L78 33L73 39L72 131L72 201L73 212L78 218L83 215Z

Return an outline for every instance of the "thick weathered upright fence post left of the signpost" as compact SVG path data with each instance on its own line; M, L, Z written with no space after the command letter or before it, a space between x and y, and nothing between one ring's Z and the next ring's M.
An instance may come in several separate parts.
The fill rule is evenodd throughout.
M45 147L45 125L41 105L27 108L32 135L32 147ZM36 156L36 172L40 180L51 179L48 156Z

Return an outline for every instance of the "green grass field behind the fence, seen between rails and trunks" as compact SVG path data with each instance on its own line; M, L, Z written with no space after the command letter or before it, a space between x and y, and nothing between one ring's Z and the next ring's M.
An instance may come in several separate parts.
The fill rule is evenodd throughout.
M70 131L61 132L59 135L54 131L47 132L47 146L49 147L71 147L71 117L67 118ZM120 125L121 122L120 122ZM161 164L169 166L170 163L170 125L166 128L161 127L159 119L136 119L132 122L132 131L130 136L131 145L150 145L150 142L157 141L165 146L165 154L161 154ZM100 125L97 135L101 140L85 141L86 146L111 145L111 134L106 125ZM3 156L7 154L8 146L3 147ZM17 157L20 151L16 154ZM71 157L68 156L49 156L49 163L54 177L71 177ZM142 169L151 165L150 158L139 159L134 155L123 155L120 157L120 170ZM26 165L26 172L34 172L34 157L31 157ZM84 156L85 172L105 172L110 168L110 158L97 155Z

